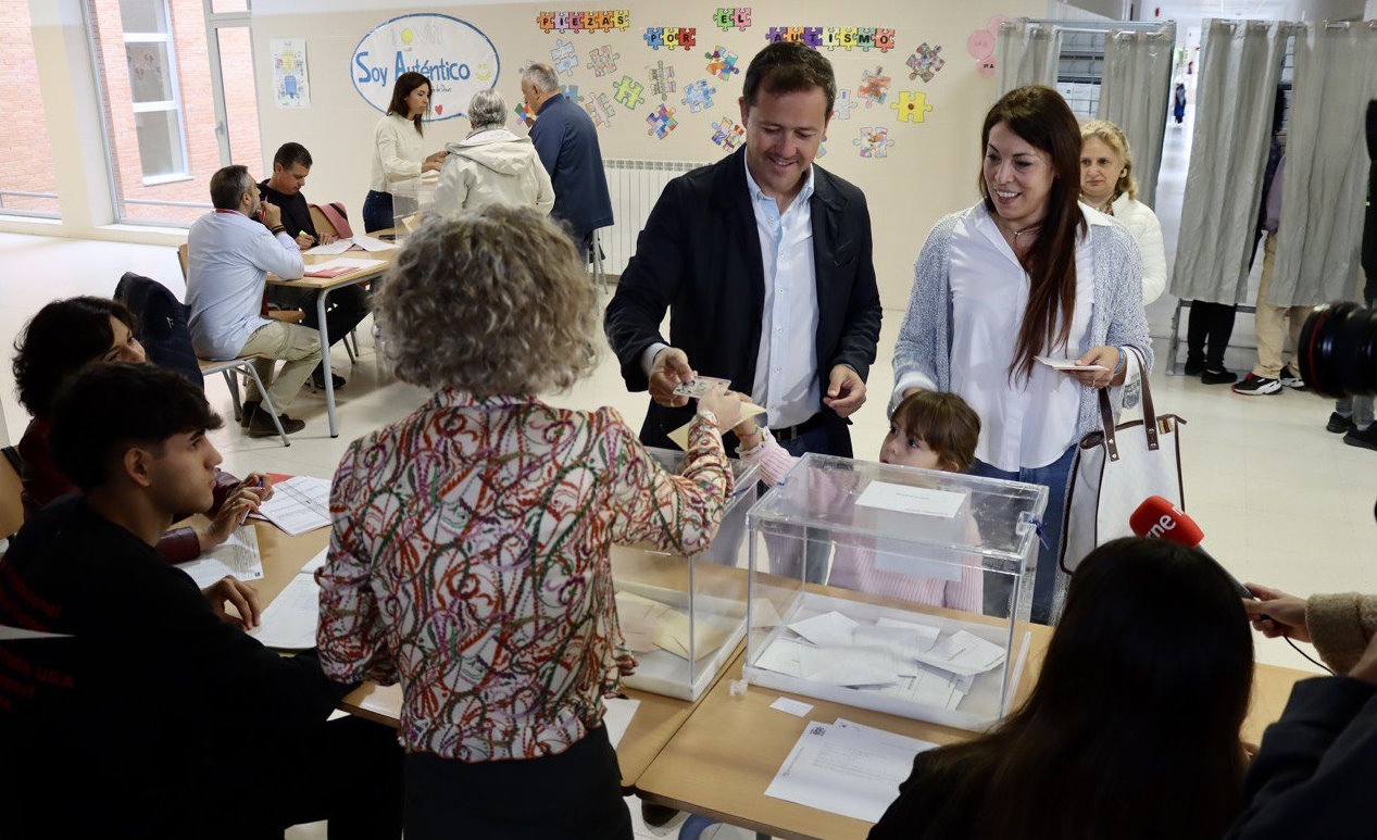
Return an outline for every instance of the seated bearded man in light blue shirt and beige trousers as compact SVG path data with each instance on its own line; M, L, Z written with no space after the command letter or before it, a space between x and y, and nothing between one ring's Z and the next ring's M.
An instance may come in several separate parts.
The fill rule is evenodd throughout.
M299 280L306 271L302 249L286 235L282 211L260 200L248 168L224 167L212 175L211 204L215 211L197 219L186 237L186 303L196 354L209 359L256 355L253 366L282 430L302 431L306 423L288 417L286 409L321 361L319 333L262 315L269 271ZM256 222L260 218L267 230ZM274 377L277 359L286 364ZM241 423L252 438L277 434L271 414L259 410L260 402L249 383Z

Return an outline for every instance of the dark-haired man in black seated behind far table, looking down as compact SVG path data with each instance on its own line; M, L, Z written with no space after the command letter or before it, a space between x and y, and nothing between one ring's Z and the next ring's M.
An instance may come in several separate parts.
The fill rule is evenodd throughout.
M306 251L314 245L329 245L335 241L335 234L317 231L315 222L311 220L311 205L306 201L302 187L306 186L306 176L311 174L311 153L300 143L282 143L277 154L273 156L273 176L259 182L259 194L264 205L274 205L282 211L282 229L286 235L296 240L296 245ZM266 226L267 222L263 220ZM315 289L293 289L291 286L271 285L267 288L267 302L278 308L302 310L306 318L304 326L319 329L321 322L315 311L315 300L319 297ZM368 292L364 286L341 286L332 289L325 299L325 325L330 336L330 346L347 336L358 322L368 317ZM325 387L324 370L315 369L311 375L317 388ZM335 387L343 387L344 380L335 377Z

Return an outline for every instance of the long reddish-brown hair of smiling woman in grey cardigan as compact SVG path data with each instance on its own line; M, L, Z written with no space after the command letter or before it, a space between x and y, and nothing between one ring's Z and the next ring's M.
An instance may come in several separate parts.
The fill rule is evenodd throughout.
M997 216L998 211L985 183L983 160L990 129L1000 123L1047 153L1053 174L1047 215L1033 245L1019 256L1023 270L1029 273L1029 306L1019 324L1009 379L1027 381L1033 373L1033 357L1064 344L1071 335L1075 237L1085 233L1085 216L1077 205L1081 197L1081 127L1062 95L1049 87L1034 84L1001 96L985 116L980 132L980 196L991 216Z

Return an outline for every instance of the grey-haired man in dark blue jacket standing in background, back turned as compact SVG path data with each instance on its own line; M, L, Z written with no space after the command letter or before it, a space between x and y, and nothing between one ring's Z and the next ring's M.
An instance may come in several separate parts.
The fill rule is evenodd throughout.
M569 224L580 253L588 253L593 231L611 224L611 196L602 168L598 129L592 118L559 91L549 65L530 65L521 74L526 107L536 114L530 142L555 186L549 215Z

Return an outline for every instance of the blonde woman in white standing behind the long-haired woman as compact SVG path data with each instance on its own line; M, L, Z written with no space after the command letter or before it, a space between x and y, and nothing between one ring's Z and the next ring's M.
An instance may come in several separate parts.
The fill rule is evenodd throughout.
M1166 246L1157 213L1137 200L1133 154L1124 129L1106 120L1081 125L1081 201L1114 216L1137 240L1143 256L1143 304L1166 291Z

